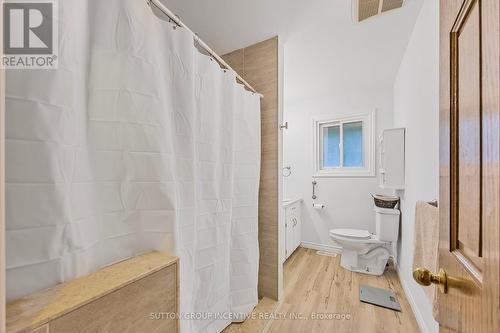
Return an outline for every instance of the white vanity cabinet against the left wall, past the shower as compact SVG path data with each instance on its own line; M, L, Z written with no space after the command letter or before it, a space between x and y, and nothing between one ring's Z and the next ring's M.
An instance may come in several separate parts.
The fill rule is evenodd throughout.
M302 199L283 203L285 210L285 260L299 247L302 239Z

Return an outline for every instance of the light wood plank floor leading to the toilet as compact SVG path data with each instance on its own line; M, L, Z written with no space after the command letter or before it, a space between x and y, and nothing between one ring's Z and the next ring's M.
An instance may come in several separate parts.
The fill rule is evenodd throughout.
M360 284L393 290L402 312L361 303ZM263 299L254 312L266 313L273 309L284 319L247 319L243 324L230 325L224 333L419 332L393 268L379 277L353 273L340 267L340 255L321 256L305 248L297 249L285 263L283 300L277 304ZM313 313L338 314L345 319L311 320ZM308 319L290 318L299 315Z

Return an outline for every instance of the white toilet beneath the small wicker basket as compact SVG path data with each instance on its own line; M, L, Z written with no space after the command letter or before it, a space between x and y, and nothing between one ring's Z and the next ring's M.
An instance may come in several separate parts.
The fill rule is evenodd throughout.
M332 229L330 238L342 246L340 265L353 272L382 275L394 257L399 232L398 209L374 208L375 234L361 229Z

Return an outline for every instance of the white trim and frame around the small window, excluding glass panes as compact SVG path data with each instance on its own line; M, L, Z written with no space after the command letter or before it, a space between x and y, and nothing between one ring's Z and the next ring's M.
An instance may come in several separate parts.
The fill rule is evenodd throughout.
M363 122L363 160L365 166L362 168L339 167L322 169L323 159L323 138L321 136L321 127L324 125L334 125L346 122ZM342 131L342 127L341 131ZM314 176L315 178L321 177L375 177L375 110L366 114L354 115L343 118L313 120L313 133L314 133ZM342 136L341 136L342 140ZM342 143L342 142L341 142ZM342 148L340 151L340 158L342 160Z

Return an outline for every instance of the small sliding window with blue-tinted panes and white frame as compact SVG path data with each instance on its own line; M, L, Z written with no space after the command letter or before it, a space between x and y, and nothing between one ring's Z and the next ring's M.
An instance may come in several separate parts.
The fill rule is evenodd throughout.
M374 176L374 114L315 121L316 176Z

